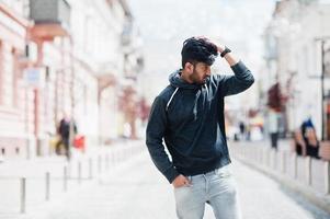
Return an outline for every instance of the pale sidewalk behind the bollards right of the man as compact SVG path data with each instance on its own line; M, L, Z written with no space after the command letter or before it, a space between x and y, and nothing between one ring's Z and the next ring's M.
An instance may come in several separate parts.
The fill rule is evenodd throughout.
M284 142L277 151L262 142L240 141L229 146L235 159L330 214L328 161L298 157Z

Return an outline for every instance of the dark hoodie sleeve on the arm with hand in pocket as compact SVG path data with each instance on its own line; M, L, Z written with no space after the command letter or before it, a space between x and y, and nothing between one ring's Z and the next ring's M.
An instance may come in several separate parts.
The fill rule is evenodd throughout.
M146 143L155 165L167 177L167 180L172 183L179 173L173 166L173 163L169 160L162 143L166 126L166 103L158 96L156 97L150 111L147 125Z

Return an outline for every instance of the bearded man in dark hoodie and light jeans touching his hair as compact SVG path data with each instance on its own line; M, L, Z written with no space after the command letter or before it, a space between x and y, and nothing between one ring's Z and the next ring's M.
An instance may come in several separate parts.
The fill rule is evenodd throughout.
M210 73L218 54L235 76ZM149 153L174 187L179 218L203 218L207 203L217 219L238 219L237 188L228 165L231 161L224 99L247 90L254 81L253 76L242 61L234 58L230 49L205 37L186 39L181 56L182 69L170 76L170 85L151 107L146 140Z

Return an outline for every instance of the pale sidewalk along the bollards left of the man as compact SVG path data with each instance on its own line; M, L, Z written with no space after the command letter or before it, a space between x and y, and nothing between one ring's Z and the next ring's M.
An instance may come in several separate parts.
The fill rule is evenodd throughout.
M114 146L91 147L84 154L75 152L70 162L65 157L35 158L32 160L15 159L0 163L0 218L18 215L21 210L21 178L26 178L26 209L61 197L66 191L79 189L81 184L91 182L91 176L113 168L118 161L128 158L130 148L141 141L123 141ZM125 152L126 151L126 152ZM91 160L92 159L92 160ZM65 166L67 181L65 182ZM47 184L46 172L50 180ZM66 184L66 185L65 185ZM49 193L47 195L47 185Z

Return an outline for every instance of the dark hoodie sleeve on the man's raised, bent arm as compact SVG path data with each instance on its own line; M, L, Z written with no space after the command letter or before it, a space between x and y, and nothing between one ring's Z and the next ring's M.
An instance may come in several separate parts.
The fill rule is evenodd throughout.
M219 76L220 77L220 92L223 96L234 95L243 92L250 88L254 78L251 71L242 61L239 61L231 67L235 76Z

